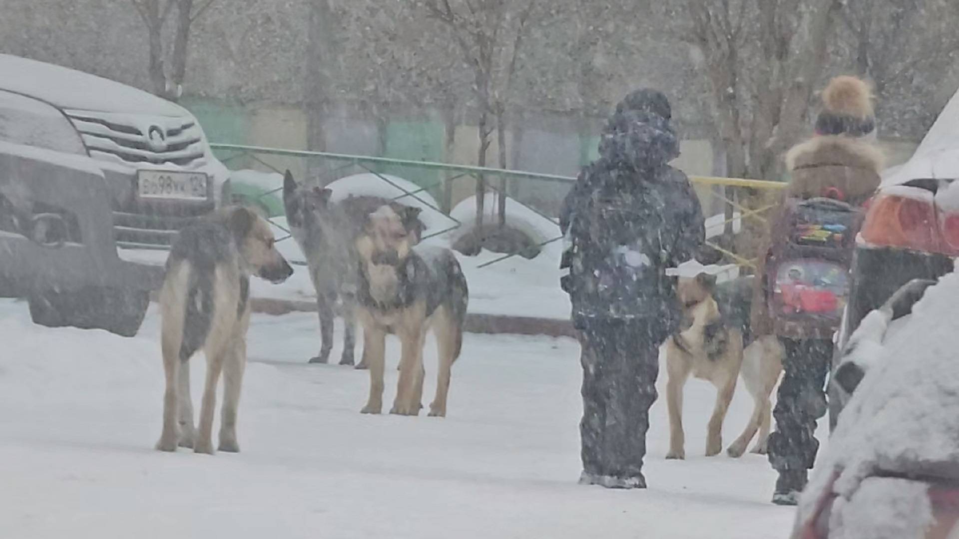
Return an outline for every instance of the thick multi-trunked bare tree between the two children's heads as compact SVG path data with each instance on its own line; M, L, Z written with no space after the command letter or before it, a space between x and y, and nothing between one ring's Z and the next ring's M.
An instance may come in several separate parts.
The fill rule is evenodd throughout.
M681 36L712 89L728 174L769 178L804 129L841 0L687 0Z

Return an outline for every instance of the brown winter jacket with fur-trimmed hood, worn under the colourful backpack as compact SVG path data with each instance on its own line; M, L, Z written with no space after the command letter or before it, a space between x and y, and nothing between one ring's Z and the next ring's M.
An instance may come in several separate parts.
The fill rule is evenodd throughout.
M793 147L786 154L786 166L791 172L784 189L785 199L833 198L837 193L854 206L861 205L876 191L882 170L882 153L864 138L847 135L816 136ZM837 191L836 191L837 190ZM754 279L752 306L752 333L754 336L774 333L773 319L768 309L768 282L766 275L774 246L787 240L784 225L784 203L770 215L769 230L760 246L760 258ZM791 335L795 339L821 337Z

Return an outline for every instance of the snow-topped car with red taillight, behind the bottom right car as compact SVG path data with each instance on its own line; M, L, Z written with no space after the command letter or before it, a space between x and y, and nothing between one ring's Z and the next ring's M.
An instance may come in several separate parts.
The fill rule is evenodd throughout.
M856 237L849 300L836 355L863 318L912 279L935 280L959 256L959 94L913 156L882 178ZM830 397L832 395L830 394ZM830 398L830 402L836 399ZM838 410L830 405L830 427Z

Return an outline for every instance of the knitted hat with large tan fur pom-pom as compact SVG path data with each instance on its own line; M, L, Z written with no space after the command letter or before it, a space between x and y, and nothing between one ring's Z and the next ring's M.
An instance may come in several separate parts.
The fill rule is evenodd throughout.
M832 79L822 93L817 135L876 136L873 92L868 82L847 75Z

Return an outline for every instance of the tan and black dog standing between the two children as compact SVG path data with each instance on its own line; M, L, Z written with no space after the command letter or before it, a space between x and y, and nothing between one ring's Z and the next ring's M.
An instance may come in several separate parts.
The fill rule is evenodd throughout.
M683 306L683 328L667 340L667 408L669 413L669 452L667 458L685 458L683 433L683 387L690 374L716 387L716 402L706 433L706 456L722 450L722 424L736 392L739 374L756 404L746 429L729 447L730 457L740 457L757 430L759 440L753 453L766 452L770 427L770 395L783 370L783 345L775 336L763 336L745 349L745 329L751 285L745 279L734 282L733 297L724 301L737 307L738 313L726 313L713 296L715 277L699 274L679 279L677 292ZM739 315L739 316L737 316Z

